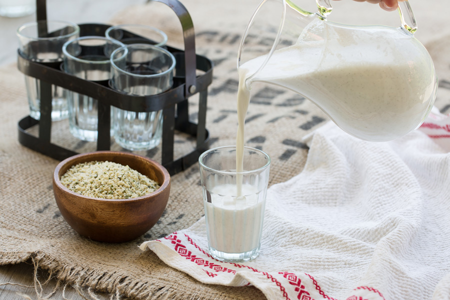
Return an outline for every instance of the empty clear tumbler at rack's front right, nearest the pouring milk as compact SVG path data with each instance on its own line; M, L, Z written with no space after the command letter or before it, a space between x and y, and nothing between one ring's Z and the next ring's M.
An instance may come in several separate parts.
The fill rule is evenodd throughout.
M131 95L153 95L173 84L175 58L150 44L129 44L111 55L111 87ZM162 110L136 112L112 107L114 139L128 150L157 146L162 135Z

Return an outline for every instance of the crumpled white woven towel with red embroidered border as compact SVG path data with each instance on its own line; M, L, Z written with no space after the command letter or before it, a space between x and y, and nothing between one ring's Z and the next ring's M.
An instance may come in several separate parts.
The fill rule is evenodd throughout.
M450 153L420 130L374 143L331 122L309 145L303 171L268 189L255 260L209 256L204 218L141 249L268 299L450 299Z

